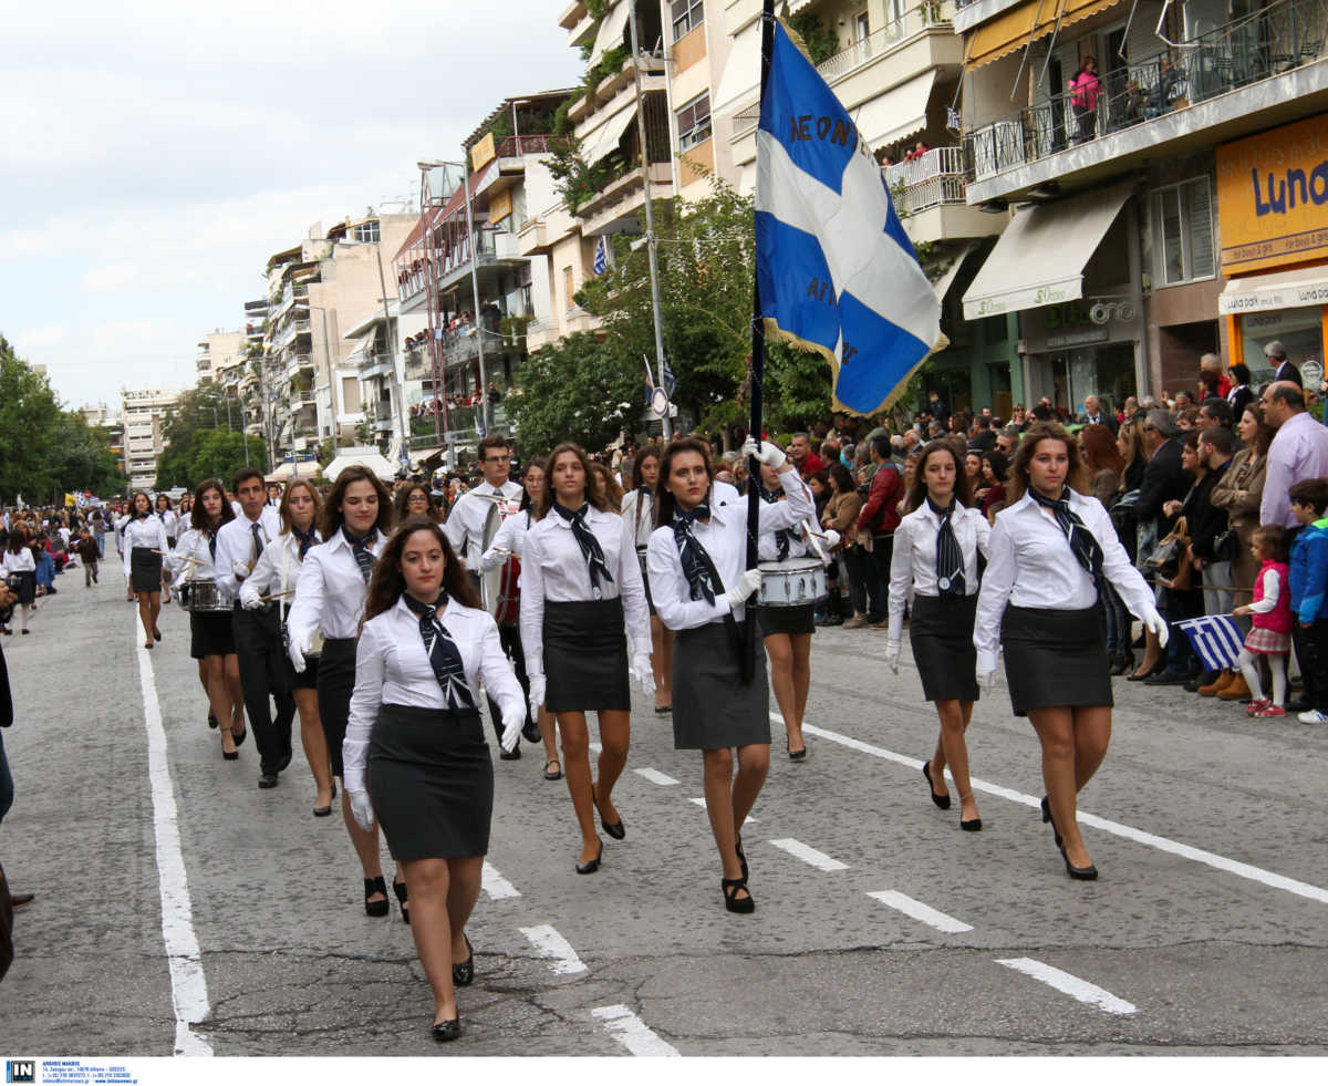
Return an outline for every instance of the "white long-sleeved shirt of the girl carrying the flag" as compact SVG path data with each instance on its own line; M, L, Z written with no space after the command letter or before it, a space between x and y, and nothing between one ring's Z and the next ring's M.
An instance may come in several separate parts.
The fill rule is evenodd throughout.
M805 486L791 486L797 470L781 471L780 479L789 487L788 501L761 502L761 532L789 528L806 516L815 515L811 491ZM651 532L651 546L647 552L647 574L651 579L651 599L655 613L669 629L695 629L706 623L721 620L729 613L725 592L738 583L746 570L746 510L748 502L737 489L728 483L710 485L709 523L697 522L692 526L696 540L714 564L714 572L724 582L724 588L714 593L714 603L706 603L705 596L692 599L692 589L683 574L683 559L673 542L673 526L664 524ZM733 612L741 620L746 607L740 604Z

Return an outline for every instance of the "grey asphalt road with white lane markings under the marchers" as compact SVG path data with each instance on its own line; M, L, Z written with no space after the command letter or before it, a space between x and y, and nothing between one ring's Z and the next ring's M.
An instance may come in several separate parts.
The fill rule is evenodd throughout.
M410 931L364 915L340 819L301 755L259 791L223 762L165 609L142 649L114 567L58 579L5 639L17 801L0 826L17 960L0 1051L169 1055L1323 1054L1328 728L1250 722L1117 682L1081 797L1102 872L1070 882L1036 802L1038 753L1004 692L969 732L985 828L927 799L935 714L884 633L823 631L805 763L773 766L746 828L757 912L724 911L700 757L633 714L598 875L578 876L563 782L495 762L465 1037L428 1036ZM77 576L77 580L76 580ZM954 789L952 789L954 791ZM390 871L390 867L386 868Z

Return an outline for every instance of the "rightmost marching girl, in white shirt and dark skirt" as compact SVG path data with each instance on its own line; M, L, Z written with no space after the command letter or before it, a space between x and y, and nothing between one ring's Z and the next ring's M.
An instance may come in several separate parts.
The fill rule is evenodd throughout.
M1112 678L1096 609L1102 579L1163 648L1167 641L1153 591L1102 503L1084 497L1088 485L1078 441L1057 424L1033 424L996 514L973 627L981 685L992 685L1004 645L1015 716L1029 718L1042 746L1042 822L1052 823L1072 879L1097 878L1076 802L1112 739Z

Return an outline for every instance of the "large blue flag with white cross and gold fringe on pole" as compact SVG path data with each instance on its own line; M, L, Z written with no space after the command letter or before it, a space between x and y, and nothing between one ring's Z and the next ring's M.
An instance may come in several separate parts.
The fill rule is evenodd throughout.
M781 24L757 130L756 252L766 335L825 356L835 406L880 410L946 345L880 166Z

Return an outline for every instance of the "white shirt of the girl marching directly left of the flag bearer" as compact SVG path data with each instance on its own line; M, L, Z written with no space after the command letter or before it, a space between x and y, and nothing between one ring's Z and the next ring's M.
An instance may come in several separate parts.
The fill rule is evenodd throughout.
M612 582L600 583L600 599L622 597L627 633L636 651L649 652L651 612L645 604L645 583L636 559L632 527L616 512L590 507L586 526L595 532L604 552ZM535 520L526 532L521 562L521 644L526 651L526 673L544 673L544 603L580 603L595 599L590 568L571 522L556 510Z

